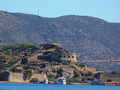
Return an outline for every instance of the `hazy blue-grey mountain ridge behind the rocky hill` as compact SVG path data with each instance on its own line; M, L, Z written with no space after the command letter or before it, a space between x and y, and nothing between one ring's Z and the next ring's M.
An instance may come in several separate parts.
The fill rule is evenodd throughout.
M89 16L45 18L0 11L0 44L60 42L80 60L119 59L120 23Z

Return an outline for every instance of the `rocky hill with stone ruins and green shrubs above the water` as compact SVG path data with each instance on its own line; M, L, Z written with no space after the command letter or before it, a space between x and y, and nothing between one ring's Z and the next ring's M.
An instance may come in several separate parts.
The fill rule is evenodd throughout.
M0 81L28 83L48 78L49 83L56 83L64 77L67 83L88 83L104 73L73 58L58 43L4 45L0 50Z

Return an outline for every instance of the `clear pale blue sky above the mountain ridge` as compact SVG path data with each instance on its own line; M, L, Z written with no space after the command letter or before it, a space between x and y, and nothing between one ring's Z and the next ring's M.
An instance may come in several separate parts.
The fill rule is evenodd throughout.
M0 10L42 17L93 16L120 22L120 0L0 0Z

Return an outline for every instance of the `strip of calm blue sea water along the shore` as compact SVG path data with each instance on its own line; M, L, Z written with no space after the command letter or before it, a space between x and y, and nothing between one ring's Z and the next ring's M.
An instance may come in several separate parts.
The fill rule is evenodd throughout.
M120 86L0 83L0 90L120 90Z

